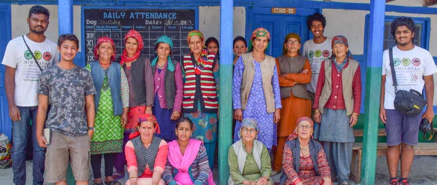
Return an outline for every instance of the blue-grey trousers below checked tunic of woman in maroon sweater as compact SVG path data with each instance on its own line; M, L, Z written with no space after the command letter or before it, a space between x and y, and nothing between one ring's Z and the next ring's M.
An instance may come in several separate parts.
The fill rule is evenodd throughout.
M331 168L331 177L338 177L341 184L349 181L353 142L323 142L323 151Z

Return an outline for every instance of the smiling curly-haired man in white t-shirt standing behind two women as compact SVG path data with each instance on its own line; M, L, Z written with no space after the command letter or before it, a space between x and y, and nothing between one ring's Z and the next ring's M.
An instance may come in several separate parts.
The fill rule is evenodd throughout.
M331 57L332 38L325 37L326 19L322 14L315 13L306 19L306 26L313 33L314 38L303 43L302 56L307 57L311 65L311 83L307 84L306 89L311 99L311 107L314 104L314 95L317 87L317 80L319 79L320 65L326 58ZM311 112L313 118L314 112ZM314 120L314 118L313 118ZM314 124L314 139L319 139L320 123Z

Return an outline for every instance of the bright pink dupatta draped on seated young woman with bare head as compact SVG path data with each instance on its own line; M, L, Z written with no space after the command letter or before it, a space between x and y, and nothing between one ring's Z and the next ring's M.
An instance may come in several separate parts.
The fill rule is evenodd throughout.
M181 150L179 148L177 140L174 140L172 142L168 142L168 162L170 162L171 166L178 169L178 174L175 176L175 181L178 185L193 185L193 181L191 180L188 169L190 168L191 164L193 164L194 160L197 157L197 154L199 153L200 145L202 144L202 141L190 139L188 145L185 149L185 154L182 156ZM181 173L181 174L179 174ZM178 178L180 177L180 178ZM186 179L188 178L188 179ZM186 179L186 180L184 180ZM209 172L208 176L208 184L209 185L216 185L213 180L212 171Z

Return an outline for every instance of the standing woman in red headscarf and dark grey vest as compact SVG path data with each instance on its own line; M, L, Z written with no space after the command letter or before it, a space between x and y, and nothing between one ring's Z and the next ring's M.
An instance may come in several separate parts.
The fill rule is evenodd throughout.
M126 73L129 83L129 112L128 121L124 131L124 144L128 141L128 135L134 129L136 121L141 114L152 114L154 98L153 73L151 62L148 57L140 56L144 47L141 34L134 29L124 37L123 54L116 59ZM124 148L124 145L123 145ZM124 177L124 165L126 160L124 153L116 157L115 179Z

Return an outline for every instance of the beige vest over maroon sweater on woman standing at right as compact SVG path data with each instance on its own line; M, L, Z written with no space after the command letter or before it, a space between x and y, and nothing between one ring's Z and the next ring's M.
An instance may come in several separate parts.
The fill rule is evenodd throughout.
M352 81L353 75L355 75L358 66L360 65L356 60L348 58L349 64L343 70L341 70L342 85L343 85L343 98L344 105L346 106L346 115L351 115L353 112L353 94L352 94ZM325 60L325 84L323 85L322 92L319 99L319 111L323 114L323 108L331 97L332 92L332 59ZM361 79L360 79L361 80Z

